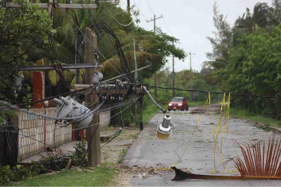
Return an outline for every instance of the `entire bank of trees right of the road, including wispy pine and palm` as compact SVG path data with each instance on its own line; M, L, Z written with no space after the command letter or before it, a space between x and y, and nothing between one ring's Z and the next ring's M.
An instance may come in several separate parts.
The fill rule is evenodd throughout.
M270 7L257 3L251 12L237 18L233 28L214 6L215 38L209 38L213 52L204 67L213 70L223 91L281 96L280 93L280 0ZM280 119L278 98L232 96L232 106Z

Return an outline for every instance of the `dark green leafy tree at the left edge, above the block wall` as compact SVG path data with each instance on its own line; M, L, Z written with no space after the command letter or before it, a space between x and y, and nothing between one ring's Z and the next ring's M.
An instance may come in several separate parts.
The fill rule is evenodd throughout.
M56 32L52 29L52 20L48 18L48 12L39 9L38 3L31 6L27 0L13 2L20 3L21 8L0 8L1 99L17 98L18 94L13 92L15 90L13 80L18 66L32 64L28 59L28 53L38 49L48 50L48 34ZM23 87L26 96L29 90L25 85ZM26 101L25 98L24 102Z

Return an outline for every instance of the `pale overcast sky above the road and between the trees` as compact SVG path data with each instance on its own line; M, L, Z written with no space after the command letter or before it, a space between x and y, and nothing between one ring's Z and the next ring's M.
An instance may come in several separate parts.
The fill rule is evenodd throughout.
M152 9L150 10L148 3ZM212 45L206 36L212 37L213 25L213 5L214 0L130 0L131 6L135 5L140 10L139 25L147 30L153 30L153 21L146 22L163 15L163 18L156 20L156 27L161 27L163 32L173 35L180 40L178 46L186 53L196 53L192 55L191 67L200 71L202 63L208 60L206 52L212 51ZM271 0L217 0L218 10L227 15L227 21L233 26L238 16L243 15L246 8L253 10L257 2L267 2L271 5ZM121 7L126 8L127 1L121 0ZM165 23L166 22L166 23ZM172 58L168 58L169 63L165 67L172 70ZM189 69L189 57L184 62L175 59L175 71Z

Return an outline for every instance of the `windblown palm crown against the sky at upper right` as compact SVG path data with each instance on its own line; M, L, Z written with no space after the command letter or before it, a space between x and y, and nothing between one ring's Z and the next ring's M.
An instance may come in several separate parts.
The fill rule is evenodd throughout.
M257 27L265 28L270 25L269 7L267 3L257 3L253 8L253 13L246 8L246 15L243 14L235 22L235 26L243 29L245 32L254 32Z

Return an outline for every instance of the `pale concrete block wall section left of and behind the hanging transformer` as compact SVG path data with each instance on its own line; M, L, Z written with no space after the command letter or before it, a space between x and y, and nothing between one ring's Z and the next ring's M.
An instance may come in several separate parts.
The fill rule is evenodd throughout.
M42 115L56 116L56 108L30 109L30 111ZM44 142L50 146L54 146L55 140L56 146L60 146L63 143L71 141L71 125L67 127L56 126L54 134L55 120L37 117L24 112L16 112L16 114L13 123L15 126L18 126L19 129L19 162L44 151ZM29 136L30 138L26 136Z

